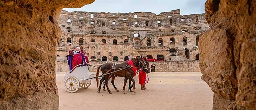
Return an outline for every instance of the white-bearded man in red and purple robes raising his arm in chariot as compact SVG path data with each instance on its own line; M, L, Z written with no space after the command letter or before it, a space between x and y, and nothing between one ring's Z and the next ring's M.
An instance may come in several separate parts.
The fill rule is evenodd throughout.
M70 50L70 42L67 43L67 49L69 51L68 56L68 64L69 70L73 70L77 65L83 64L81 66L85 66L85 56L83 53L80 52L80 47L77 47L75 51Z

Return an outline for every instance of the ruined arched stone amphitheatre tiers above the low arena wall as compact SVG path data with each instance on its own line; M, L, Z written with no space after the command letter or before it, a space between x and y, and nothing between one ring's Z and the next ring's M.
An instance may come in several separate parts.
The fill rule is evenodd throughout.
M197 42L200 33L209 29L204 13L180 15L179 9L159 15L152 12L97 13L62 10L59 26L62 37L58 42L57 55L68 55L66 43L69 41L73 49L82 46L90 61L102 61L103 57L107 57L107 61L114 61L114 57L118 61L125 61L129 54L131 57L145 55L164 61L180 57L196 60L196 55L199 56ZM170 51L171 49L174 51Z

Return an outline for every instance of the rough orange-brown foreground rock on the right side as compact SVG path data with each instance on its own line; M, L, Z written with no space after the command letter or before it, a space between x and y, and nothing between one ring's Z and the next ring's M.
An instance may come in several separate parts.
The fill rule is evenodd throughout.
M256 109L256 1L205 3L210 29L199 40L201 77L213 109Z

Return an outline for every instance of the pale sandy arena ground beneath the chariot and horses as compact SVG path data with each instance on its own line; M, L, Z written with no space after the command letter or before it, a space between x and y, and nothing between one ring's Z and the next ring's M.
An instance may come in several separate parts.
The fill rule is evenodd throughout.
M95 73L95 72L92 72ZM97 93L96 81L87 89L69 93L64 88L64 74L56 73L60 110L211 110L213 92L201 80L201 72L151 72L148 74L148 90L140 90L138 75L135 76L136 94L121 92L124 78L115 80L116 92L111 81L108 85L113 94L101 89Z

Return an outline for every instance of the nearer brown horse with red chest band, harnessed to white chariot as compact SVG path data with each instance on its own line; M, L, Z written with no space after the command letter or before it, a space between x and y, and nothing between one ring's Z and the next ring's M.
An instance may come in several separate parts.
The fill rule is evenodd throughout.
M145 72L150 72L149 70L149 66L147 65L148 64L148 61L146 59L145 56L141 56L141 57L137 57L137 58L134 58L131 60L134 64L134 66L137 68L137 70L139 70L140 68L143 69ZM122 64L116 64L116 68L123 68L123 67L127 67L128 66L128 63L127 62L124 62ZM97 73L96 73L96 76L99 76L99 69L101 68L101 72L102 74L107 74L109 72L114 72L114 69L110 70L113 67L113 63L105 63L103 65L100 65L98 68L97 68ZM121 71L118 71L118 72L115 72L115 73L112 73L111 75L113 76L118 76L118 77L124 77L124 87L123 87L123 92L124 94L126 94L125 92L125 86L126 86L126 83L127 83L127 80L129 79L130 81L132 81L133 83L133 92L136 93L135 91L135 81L133 79L133 75L136 74L132 71L131 68L127 68L127 69L124 69L124 70L121 70ZM109 90L108 88L108 79L110 77L110 74L109 75L105 75L103 76L103 78L100 80L100 85L99 85L99 78L97 77L96 78L96 82L97 82L97 87L99 85L99 89L98 89L98 93L100 93L100 89L101 89L101 84L103 81L105 81L105 85L107 87L107 90L108 90L108 93L109 94L112 94L112 92ZM106 79L106 80L105 80ZM111 81L112 83L112 81ZM112 83L113 86L114 86L114 82ZM114 86L115 87L115 86ZM116 89L116 88L115 88Z

